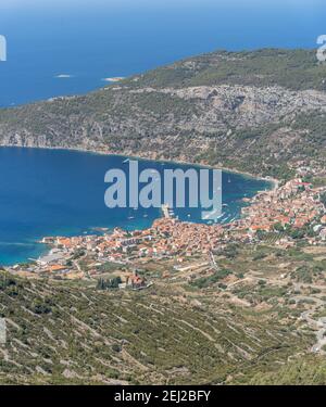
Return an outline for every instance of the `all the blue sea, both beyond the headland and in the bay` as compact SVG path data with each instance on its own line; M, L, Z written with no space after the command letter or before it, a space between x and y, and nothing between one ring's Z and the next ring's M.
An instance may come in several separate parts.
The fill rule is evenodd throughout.
M325 0L1 0L0 106L82 94L108 78L217 49L315 48L325 15ZM45 236L149 227L160 209L104 205L105 171L126 164L122 156L0 148L0 264L40 256ZM242 199L266 188L267 181L224 171L221 221L237 218ZM176 215L201 221L195 209Z

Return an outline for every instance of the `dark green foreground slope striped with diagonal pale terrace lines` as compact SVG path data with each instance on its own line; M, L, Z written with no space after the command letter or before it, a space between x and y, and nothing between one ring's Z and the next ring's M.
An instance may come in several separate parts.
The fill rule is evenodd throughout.
M0 382L246 383L313 343L277 308L171 287L102 292L1 272Z

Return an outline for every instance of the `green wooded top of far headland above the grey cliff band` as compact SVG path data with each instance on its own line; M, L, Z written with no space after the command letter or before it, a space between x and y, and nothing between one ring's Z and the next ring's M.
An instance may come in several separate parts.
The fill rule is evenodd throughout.
M278 85L292 90L326 90L326 67L314 50L262 49L216 51L154 69L137 80L137 87L212 85ZM125 81L135 86L133 78Z

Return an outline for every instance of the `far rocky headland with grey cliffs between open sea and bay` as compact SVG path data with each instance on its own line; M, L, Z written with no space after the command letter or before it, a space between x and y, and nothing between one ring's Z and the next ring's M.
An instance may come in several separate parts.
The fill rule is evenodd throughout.
M73 148L287 177L325 161L326 65L314 51L217 51L86 96L0 111L0 145Z

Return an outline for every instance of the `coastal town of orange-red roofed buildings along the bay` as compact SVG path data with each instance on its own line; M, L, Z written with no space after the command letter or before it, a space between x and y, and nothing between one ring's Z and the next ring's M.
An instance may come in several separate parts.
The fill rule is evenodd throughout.
M151 282L142 269L153 260L158 265L165 262L173 270L189 270L191 276L204 269L212 271L214 255L231 243L269 241L288 249L300 238L310 245L325 245L325 193L326 188L313 188L296 178L259 193L242 208L241 218L225 225L179 221L163 206L164 216L149 229L115 228L102 234L43 238L42 243L51 246L49 254L8 269L25 277L85 280L98 280L114 271L118 279L105 287L145 289ZM168 277L168 270L162 276Z

